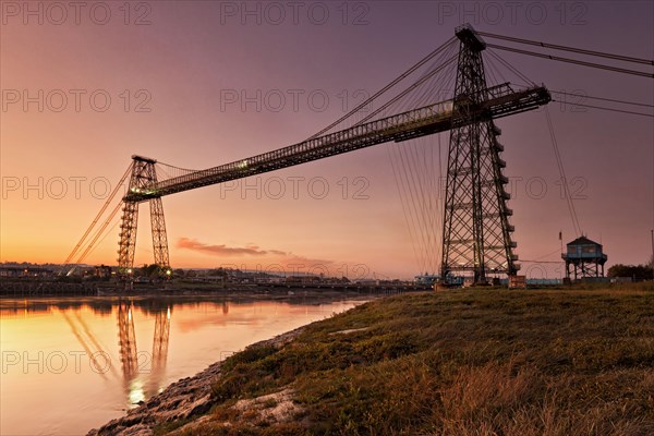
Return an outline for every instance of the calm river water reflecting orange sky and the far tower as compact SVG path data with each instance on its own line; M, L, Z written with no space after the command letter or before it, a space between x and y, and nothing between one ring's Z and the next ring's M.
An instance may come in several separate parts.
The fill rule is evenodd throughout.
M0 434L86 434L250 343L362 302L1 300Z

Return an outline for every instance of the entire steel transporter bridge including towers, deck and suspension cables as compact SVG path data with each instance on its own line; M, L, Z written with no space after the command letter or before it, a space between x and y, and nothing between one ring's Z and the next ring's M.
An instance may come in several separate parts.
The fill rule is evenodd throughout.
M441 255L438 255L438 249L435 246L436 239L428 234L426 238L423 234L422 245L419 246L420 252L436 253L428 262L440 257L440 268L433 269L440 269L440 276L446 280L448 275L456 271L464 271L468 272L467 275L472 275L475 282L486 282L488 275L496 272L516 274L519 265L517 264L518 256L513 252L513 249L517 246L512 239L514 229L509 223L512 210L508 207L507 201L510 199L510 195L505 190L508 183L507 178L504 175L506 162L499 157L500 153L504 152L504 146L497 140L501 131L495 125L494 120L535 109L552 101L552 97L544 86L535 85L493 51L488 55L509 68L511 73L518 75L520 81L524 81L526 86L521 87L520 90L514 90L508 82L489 86L486 82L487 76L483 59L484 50L486 48L499 49L650 80L654 78L654 70L651 70L654 66L654 60L476 32L470 25L457 28L455 35L456 37L450 38L432 53L427 55L356 108L304 142L201 171L175 168L157 162L154 159L133 156L132 165L128 168L120 182L117 183L102 208L64 262L62 274L71 265L73 268L68 271L68 275L72 274L74 266L81 264L90 253L95 244L100 240L104 231L121 209L121 206L119 271L123 277L132 272L138 205L149 202L155 264L160 267L161 271L170 274L161 197L201 186L288 168L376 144L400 143L446 131L451 131L451 134L448 148L446 198L443 207ZM635 63L640 66L639 69L622 68L615 64L552 56L497 44L486 44L482 39L482 36L510 41L511 44L537 46L583 55L584 57ZM458 55L451 56L451 49L456 48L455 43L457 38L459 40L459 51ZM443 98L434 96L434 90L436 90L436 95L444 90L444 88L438 88L434 85L438 82L435 77L441 71L449 71L445 70L445 68L450 66L450 64L453 65L455 60L458 60L458 62L456 63L453 97L450 100L443 101ZM488 77L495 77L493 72L494 65L491 59L487 60L489 61L486 65L489 70ZM429 62L432 63L429 64ZM429 66L425 66L427 64ZM434 66L434 64L437 64L437 66ZM649 70L642 71L642 65L647 65ZM423 68L427 69L427 71L423 70L422 75L414 83L396 96L389 97L389 90L393 86L410 76L415 77L419 75L416 72ZM499 72L499 75L502 76L501 72ZM450 80L451 76L448 76L446 86L449 86ZM593 97L561 90L553 90L553 93L561 96L588 97L603 102L633 105L639 108L651 107L651 105L642 102L615 98ZM386 98L389 99L385 101ZM433 101L440 102L432 104ZM566 100L558 101L562 105L573 107L595 108L618 113L652 117L650 113L643 112L642 109L625 110L621 107L611 107L609 104L586 105ZM382 102L382 106L372 111L372 113L368 113L368 110L372 110L373 102ZM416 107L419 108L415 109ZM392 114L389 116L389 113ZM353 123L353 125L334 132L338 125L344 124L343 122L348 124ZM557 149L548 114L547 122L559 174L564 181L564 193L568 202L572 225L574 231L580 233L581 227L574 211L572 197L565 183L564 166ZM398 147L398 149L401 150L402 147ZM411 159L408 160L410 161ZM405 161L402 160L402 169L405 170ZM157 173L157 170L160 170L160 172ZM172 170L172 174L167 173L168 170ZM419 170L419 172L421 171ZM110 203L118 196L120 187L128 178L130 179L128 193L116 207L108 209ZM422 190L421 180L416 182L414 179L411 179L411 181L409 181L409 178L407 179L409 186L412 183L414 186L419 184ZM431 182L427 181L426 184L427 190L431 189ZM404 187L402 186L402 190ZM398 183L398 189L400 189L400 183ZM425 196L423 192L422 195L423 203L427 203L425 202L425 197L431 195L431 193L427 193ZM400 197L402 197L401 193ZM434 226L433 222L435 221L431 217L440 217L441 215L438 211L434 214L431 209L432 198L428 199L429 206L421 207L417 210L412 195L413 213L411 209L409 210L411 219L407 217L408 207L407 203L402 199L402 207L404 208L410 233L412 231L415 232L416 227L424 228L426 226L431 229L438 227ZM99 230L92 233L106 210L111 210L109 217L102 222ZM415 244L414 250L417 255L419 250L416 250ZM78 255L76 263L71 263L76 255Z

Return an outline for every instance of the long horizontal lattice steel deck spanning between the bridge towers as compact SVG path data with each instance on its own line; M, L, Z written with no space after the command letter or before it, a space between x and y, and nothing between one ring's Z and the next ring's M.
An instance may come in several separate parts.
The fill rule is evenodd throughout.
M425 106L272 152L174 177L149 186L133 189L123 199L125 202L145 202L150 198L275 171L377 144L401 142L445 132L470 122L491 120L531 110L550 100L547 89L540 86L514 92L508 84L502 84L485 89L485 93L487 98L483 99L481 104L473 102L477 98L467 96L459 97L456 102L449 100Z

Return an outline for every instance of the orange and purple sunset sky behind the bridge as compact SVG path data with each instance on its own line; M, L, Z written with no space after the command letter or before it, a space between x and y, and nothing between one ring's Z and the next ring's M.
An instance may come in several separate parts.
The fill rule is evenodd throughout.
M0 12L0 262L62 263L132 155L204 169L303 141L461 23L654 59L650 1L3 1ZM652 78L498 53L549 89L654 105ZM604 245L607 267L647 262L653 118L548 110L582 232ZM578 234L545 113L497 124L522 272L561 277L559 232L562 242ZM427 144L443 141L445 159L448 138ZM164 197L171 266L424 272L393 178L397 146ZM140 217L135 265L153 263L145 205ZM114 223L86 263L116 265Z

